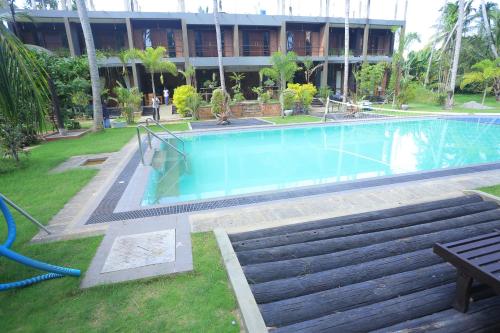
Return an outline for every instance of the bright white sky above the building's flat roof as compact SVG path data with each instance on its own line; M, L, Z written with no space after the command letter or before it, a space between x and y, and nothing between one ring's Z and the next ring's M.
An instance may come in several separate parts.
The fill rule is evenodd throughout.
M87 0L88 1L88 0ZM137 0L143 12L178 12L177 0ZM207 8L212 12L213 0L184 0L187 12L198 12L198 8ZM278 14L278 0L221 0L222 9L227 13L258 14L265 10L268 15ZM293 15L319 16L321 0L285 0L288 13L292 7ZM404 17L406 0L371 0L370 17L379 19L400 19ZM450 0L451 1L451 0ZM492 1L492 0L489 0ZM493 0L500 1L500 0ZM124 9L124 0L93 0L96 10L120 11ZM351 0L351 17L366 17L367 0ZM407 32L419 34L421 42L412 45L419 49L427 45L434 33L433 26L439 19L439 9L446 0L408 0ZM325 3L325 0L323 0ZM480 0L474 0L478 7ZM330 0L330 15L344 16L344 0ZM396 12L397 4L397 12ZM360 10L361 8L361 10Z

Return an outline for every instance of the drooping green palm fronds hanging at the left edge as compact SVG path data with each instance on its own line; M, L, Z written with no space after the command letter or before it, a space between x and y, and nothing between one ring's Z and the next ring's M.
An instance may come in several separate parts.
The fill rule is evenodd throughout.
M19 136L44 128L50 93L45 70L3 24L8 15L0 14L0 144L18 160Z

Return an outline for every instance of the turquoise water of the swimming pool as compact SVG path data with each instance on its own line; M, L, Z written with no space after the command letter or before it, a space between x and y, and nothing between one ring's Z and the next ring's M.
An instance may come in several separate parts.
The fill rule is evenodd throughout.
M228 131L154 159L143 205L289 189L500 161L500 125L425 119Z

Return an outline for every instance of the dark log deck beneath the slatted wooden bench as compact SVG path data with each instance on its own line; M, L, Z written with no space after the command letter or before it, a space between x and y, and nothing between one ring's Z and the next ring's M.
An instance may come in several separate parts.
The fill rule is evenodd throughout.
M499 228L470 195L229 238L272 332L500 332L500 296L474 284L456 311L456 269L432 251Z

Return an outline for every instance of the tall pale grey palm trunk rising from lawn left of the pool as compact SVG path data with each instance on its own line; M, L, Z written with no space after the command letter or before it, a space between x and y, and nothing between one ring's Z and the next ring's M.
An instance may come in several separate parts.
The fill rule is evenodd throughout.
M92 84L92 101L94 106L94 124L93 131L104 129L102 124L102 104L101 104L101 82L99 79L99 69L97 67L97 58L95 55L94 37L90 28L89 16L84 0L75 0L78 9L78 16L82 25L83 36L85 37L85 46L87 47L87 57L89 59L90 82Z

